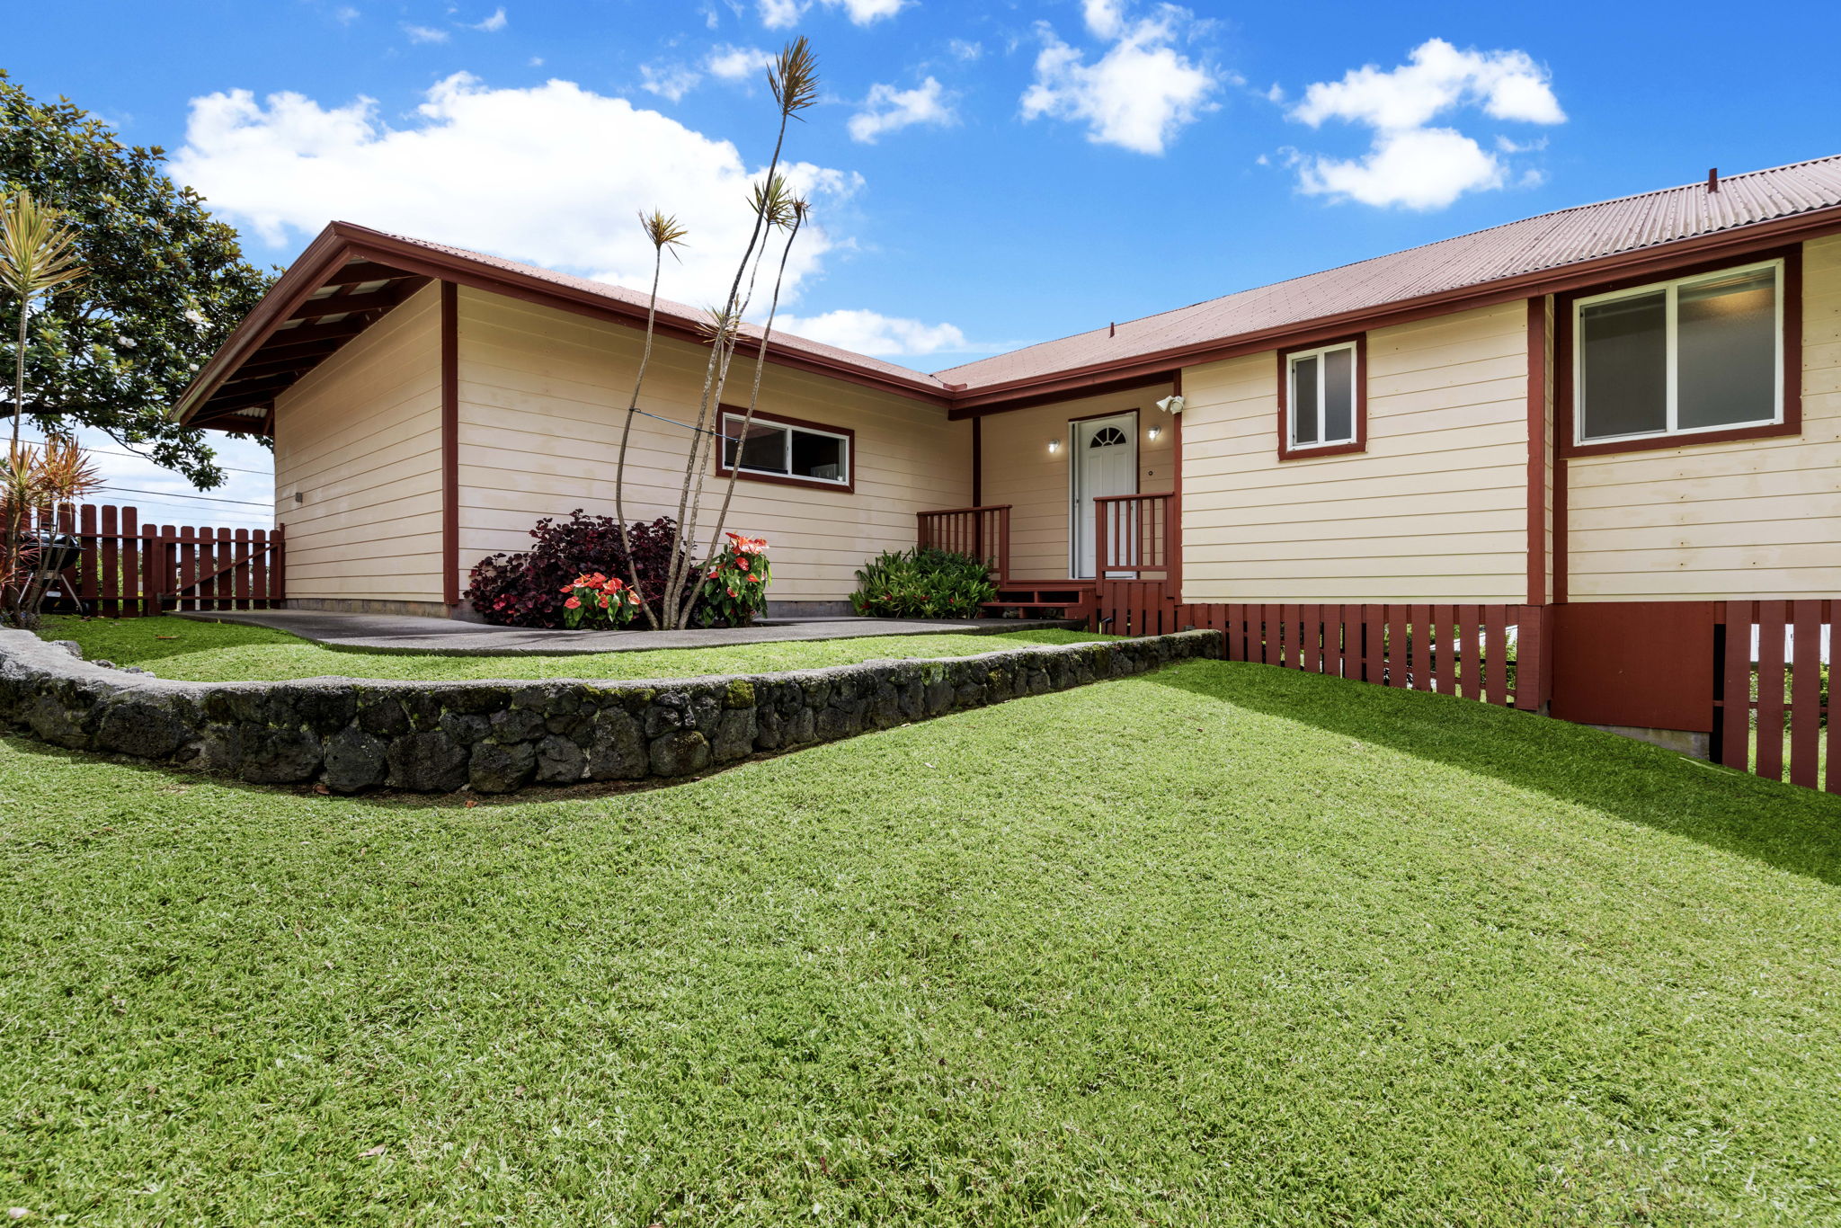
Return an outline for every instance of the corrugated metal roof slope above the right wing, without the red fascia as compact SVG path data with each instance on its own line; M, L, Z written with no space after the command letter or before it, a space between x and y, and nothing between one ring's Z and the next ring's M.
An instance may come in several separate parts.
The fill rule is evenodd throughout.
M1841 155L1580 204L935 372L967 392L1384 307L1841 206Z

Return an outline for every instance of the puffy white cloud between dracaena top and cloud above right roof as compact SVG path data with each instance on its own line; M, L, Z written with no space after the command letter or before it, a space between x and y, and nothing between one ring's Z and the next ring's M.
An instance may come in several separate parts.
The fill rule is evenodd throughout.
M1092 64L1042 24L1035 83L1024 92L1025 120L1053 116L1086 123L1086 138L1138 153L1164 153L1176 133L1211 110L1221 77L1176 50L1193 24L1189 9L1158 6L1130 20L1121 0L1084 0L1088 31L1112 46Z

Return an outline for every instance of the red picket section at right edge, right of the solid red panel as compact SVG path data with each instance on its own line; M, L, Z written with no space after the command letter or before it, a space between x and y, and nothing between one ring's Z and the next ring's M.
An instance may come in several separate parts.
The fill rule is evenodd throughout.
M1841 794L1828 720L1834 600L1723 602L1714 637L1714 760L1771 781ZM1788 740L1788 755L1786 751Z

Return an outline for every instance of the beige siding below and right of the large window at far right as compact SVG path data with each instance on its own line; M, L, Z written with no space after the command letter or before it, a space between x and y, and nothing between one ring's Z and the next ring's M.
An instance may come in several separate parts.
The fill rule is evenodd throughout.
M1569 600L1841 595L1841 236L1802 249L1802 433L1567 462Z

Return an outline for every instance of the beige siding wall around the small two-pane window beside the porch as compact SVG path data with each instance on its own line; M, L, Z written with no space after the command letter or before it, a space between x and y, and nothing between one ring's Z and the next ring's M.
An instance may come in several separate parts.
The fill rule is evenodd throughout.
M1184 370L1184 600L1521 602L1526 304L1368 333L1368 449L1278 458L1278 357Z

